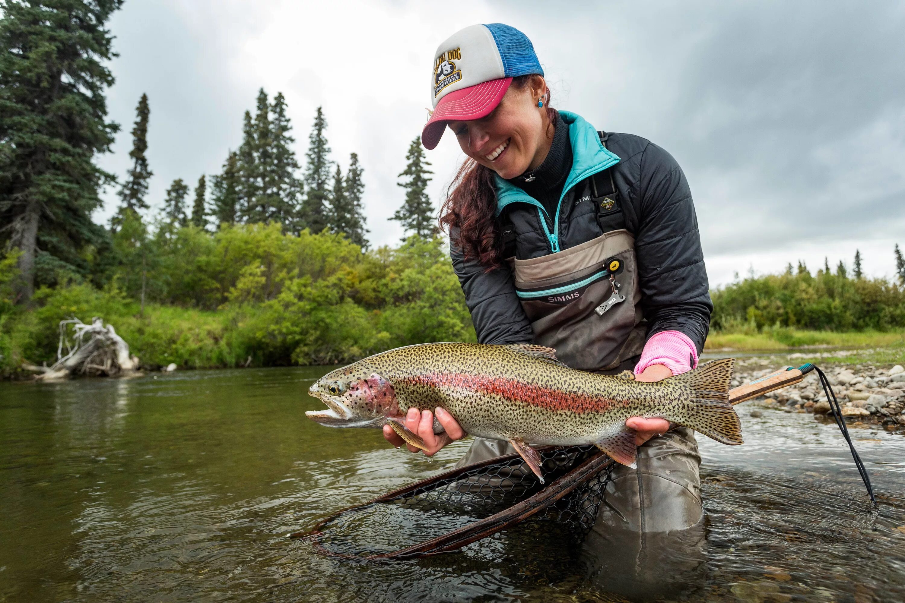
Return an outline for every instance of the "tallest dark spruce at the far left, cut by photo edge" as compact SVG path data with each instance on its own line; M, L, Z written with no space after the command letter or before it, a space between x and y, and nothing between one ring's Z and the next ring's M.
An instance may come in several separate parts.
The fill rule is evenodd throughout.
M121 0L0 0L0 243L22 251L18 303L58 270L88 275L110 245L91 221L115 178L92 163L119 127L106 120L105 24Z

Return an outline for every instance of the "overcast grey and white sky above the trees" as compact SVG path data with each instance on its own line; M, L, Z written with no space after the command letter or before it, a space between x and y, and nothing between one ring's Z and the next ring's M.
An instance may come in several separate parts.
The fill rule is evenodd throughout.
M905 246L905 4L900 2L299 2L127 0L110 22L119 58L100 164L125 174L142 92L151 108L150 202L175 178L216 174L242 140L259 88L281 91L304 161L315 109L332 158L365 168L370 239L387 218L405 151L430 106L439 42L475 23L534 42L556 108L598 129L649 138L691 183L711 285L733 273L851 265L893 273ZM428 152L438 203L462 159ZM116 197L95 215L109 221Z

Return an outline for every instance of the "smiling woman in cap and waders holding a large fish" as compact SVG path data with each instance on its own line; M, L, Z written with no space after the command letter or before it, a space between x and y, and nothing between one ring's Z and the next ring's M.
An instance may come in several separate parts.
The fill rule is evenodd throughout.
M712 305L684 174L641 137L597 132L550 108L543 75L529 39L504 24L466 27L434 56L422 142L433 149L449 128L469 157L441 221L478 341L547 345L574 368L632 369L645 382L694 368ZM438 436L430 411L406 418L428 456L467 435L445 410L436 419ZM597 525L668 532L698 523L691 430L640 417L626 426L641 446L638 467L615 470ZM388 427L384 436L403 445ZM478 438L460 464L510 452Z

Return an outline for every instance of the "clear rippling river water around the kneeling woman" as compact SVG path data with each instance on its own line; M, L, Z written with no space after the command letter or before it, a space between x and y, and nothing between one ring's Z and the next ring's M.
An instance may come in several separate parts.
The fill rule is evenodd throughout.
M286 535L468 446L431 462L313 423L323 372L0 383L0 601L905 600L905 438L852 429L872 511L833 423L750 403L744 445L699 437L706 521L653 551L656 588L530 526L423 560L320 556ZM417 530L389 518L381 536Z

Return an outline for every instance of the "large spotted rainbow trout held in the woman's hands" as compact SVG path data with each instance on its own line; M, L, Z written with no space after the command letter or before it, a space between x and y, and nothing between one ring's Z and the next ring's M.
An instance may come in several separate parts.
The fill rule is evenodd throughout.
M702 364L662 382L636 382L630 371L599 375L557 361L532 344L418 344L377 353L332 371L309 393L329 410L305 414L329 427L382 428L406 442L424 440L405 429L409 408L443 407L472 436L505 439L543 481L528 444L595 444L635 466L629 417L658 417L722 442L742 443L729 404L731 358ZM443 431L434 419L434 432Z

